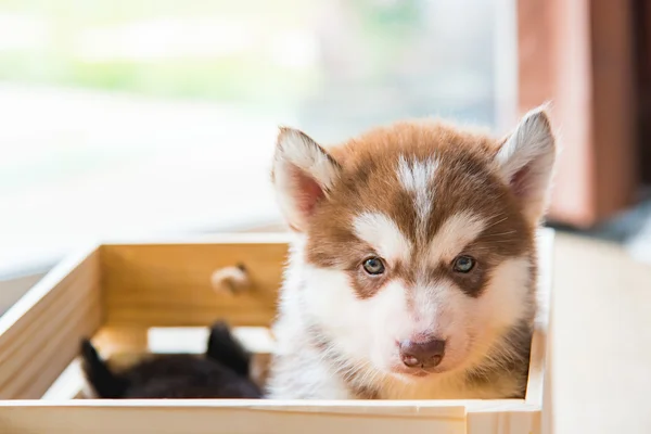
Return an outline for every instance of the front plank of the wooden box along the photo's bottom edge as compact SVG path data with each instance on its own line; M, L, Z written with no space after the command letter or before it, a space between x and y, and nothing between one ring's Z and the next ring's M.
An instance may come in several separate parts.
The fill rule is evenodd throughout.
M86 401L91 403L91 401ZM462 408L429 416L279 412L263 409L192 406L52 406L0 409L0 430L7 434L244 434L244 433L395 433L401 430L463 434Z

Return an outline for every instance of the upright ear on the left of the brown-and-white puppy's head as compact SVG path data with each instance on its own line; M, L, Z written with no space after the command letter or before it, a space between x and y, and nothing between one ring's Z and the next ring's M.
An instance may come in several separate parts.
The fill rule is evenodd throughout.
M303 232L326 199L341 166L303 131L281 128L271 173L276 195L290 227Z

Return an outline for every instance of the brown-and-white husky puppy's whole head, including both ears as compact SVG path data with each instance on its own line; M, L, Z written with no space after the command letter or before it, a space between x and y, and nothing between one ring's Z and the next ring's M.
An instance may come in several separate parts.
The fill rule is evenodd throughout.
M398 123L326 150L281 129L304 314L348 362L416 379L481 362L534 304L556 157L542 108L502 140Z

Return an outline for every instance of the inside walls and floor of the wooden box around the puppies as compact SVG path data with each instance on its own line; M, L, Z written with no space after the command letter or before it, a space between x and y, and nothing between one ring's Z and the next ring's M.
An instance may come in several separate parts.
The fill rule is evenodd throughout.
M68 258L0 318L0 399L84 397L79 341L112 363L143 354L201 353L217 319L228 321L255 354L264 383L273 337L268 329L286 263L288 233L220 235L201 242L125 243L89 247ZM542 308L532 345L523 408L542 401L551 233L540 237ZM242 267L247 282L215 282ZM237 283L237 282L235 282ZM176 344L174 344L176 343ZM178 344L178 345L177 345Z

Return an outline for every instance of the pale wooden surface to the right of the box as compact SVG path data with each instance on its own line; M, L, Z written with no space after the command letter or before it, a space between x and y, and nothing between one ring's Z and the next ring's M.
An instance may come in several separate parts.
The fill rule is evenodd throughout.
M651 267L562 234L554 257L553 433L651 432Z

